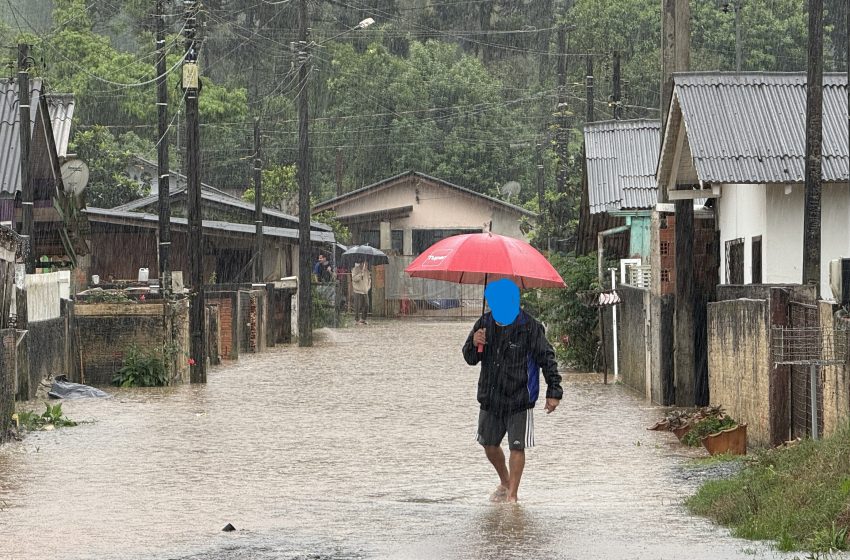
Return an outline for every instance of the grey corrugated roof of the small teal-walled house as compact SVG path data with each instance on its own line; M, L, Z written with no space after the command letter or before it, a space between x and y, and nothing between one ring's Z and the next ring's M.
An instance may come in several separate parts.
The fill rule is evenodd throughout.
M588 123L584 142L591 214L655 205L661 121Z

